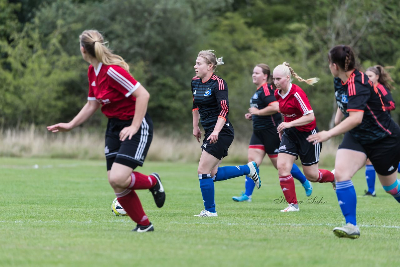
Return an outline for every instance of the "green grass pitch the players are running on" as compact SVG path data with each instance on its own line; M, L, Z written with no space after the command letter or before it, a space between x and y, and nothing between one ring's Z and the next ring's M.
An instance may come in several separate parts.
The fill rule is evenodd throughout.
M204 208L196 170L140 168L161 175L166 203L158 209L151 193L138 191L155 231L134 233L128 217L112 215L104 161L0 158L0 266L398 266L399 205L378 182L376 198L358 198L361 236L352 240L332 233L343 217L330 184L314 184L313 195L326 201L316 204L295 181L304 203L281 213L277 171L265 165L252 203L232 201L244 177L221 181L218 217L194 217ZM364 170L353 183L363 195Z

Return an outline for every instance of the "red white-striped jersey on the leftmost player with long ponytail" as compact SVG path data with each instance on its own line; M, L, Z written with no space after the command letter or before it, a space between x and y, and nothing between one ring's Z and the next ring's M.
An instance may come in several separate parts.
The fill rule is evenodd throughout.
M132 119L135 114L136 98L132 93L140 86L122 67L100 63L96 68L88 69L88 100L96 100L101 111L108 118L120 120Z

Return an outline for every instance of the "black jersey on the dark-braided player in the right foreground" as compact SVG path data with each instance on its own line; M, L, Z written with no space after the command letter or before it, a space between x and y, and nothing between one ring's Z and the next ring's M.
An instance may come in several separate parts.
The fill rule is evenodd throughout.
M354 70L345 83L335 78L334 84L336 103L346 118L350 111L364 112L362 122L350 130L360 144L374 143L392 134L395 122L386 112L378 88L366 74Z

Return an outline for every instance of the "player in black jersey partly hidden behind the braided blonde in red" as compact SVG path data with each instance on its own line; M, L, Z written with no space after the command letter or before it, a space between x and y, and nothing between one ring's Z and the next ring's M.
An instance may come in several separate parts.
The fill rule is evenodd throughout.
M257 166L260 166L267 154L272 165L277 169L276 161L278 159L280 139L278 132L276 132L276 127L282 122L282 116L279 113L279 104L274 96L272 84L268 84L272 80L270 74L271 70L267 64L257 64L254 67L252 79L257 86L257 90L250 99L249 113L244 116L246 119L253 121L253 135L248 149L248 161L254 161ZM259 171L258 168L257 171ZM296 164L293 164L290 173L302 183L306 190L306 195L310 196L312 185ZM254 182L247 176L245 188L245 192L242 192L241 196L232 197L232 199L237 202L252 201Z

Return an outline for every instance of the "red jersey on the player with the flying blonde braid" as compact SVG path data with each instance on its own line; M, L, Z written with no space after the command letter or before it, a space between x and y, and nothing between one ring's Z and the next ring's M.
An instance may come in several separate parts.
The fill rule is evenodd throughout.
M302 116L314 112L306 93L296 84L290 84L286 94L281 94L282 90L275 90L275 98L278 100L279 109L284 117L284 122L291 122ZM306 125L296 126L300 132L310 132L317 126L316 119Z

